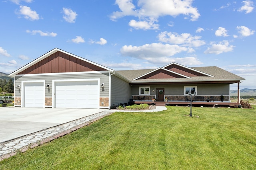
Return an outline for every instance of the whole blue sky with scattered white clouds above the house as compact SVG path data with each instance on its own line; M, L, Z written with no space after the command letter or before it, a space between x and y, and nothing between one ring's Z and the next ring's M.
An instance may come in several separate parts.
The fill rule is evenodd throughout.
M0 72L54 48L114 70L218 66L256 89L255 0L1 0ZM236 90L237 84L231 86Z

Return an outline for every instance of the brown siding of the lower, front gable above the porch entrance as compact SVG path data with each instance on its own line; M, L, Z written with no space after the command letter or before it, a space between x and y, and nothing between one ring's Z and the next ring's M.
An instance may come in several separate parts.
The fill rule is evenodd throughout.
M150 74L147 74L141 78L138 78L138 80L141 80L141 79L161 79L161 78L184 78L183 76L180 76L180 75L177 75L177 74L174 74L172 72L168 72L166 70L162 70L162 69L159 69L159 70L156 70Z

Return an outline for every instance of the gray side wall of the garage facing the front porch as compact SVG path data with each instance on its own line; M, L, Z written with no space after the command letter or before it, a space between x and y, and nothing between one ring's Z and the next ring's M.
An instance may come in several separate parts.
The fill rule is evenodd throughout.
M111 106L113 104L128 103L131 98L131 86L128 82L111 76Z

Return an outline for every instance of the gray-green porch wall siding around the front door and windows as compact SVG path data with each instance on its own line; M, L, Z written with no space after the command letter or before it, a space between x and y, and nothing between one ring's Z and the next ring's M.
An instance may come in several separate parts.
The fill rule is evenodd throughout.
M143 85L150 87L150 95L156 95L156 88L164 88L165 95L184 95L184 86L197 86L197 95L229 95L229 84L166 84L166 85ZM132 86L132 95L139 95L139 85ZM154 92L153 92L154 89Z

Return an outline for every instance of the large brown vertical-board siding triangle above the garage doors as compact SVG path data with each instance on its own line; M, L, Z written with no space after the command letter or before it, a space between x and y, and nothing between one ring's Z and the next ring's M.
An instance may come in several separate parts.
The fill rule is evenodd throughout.
M104 71L106 69L57 51L18 74Z

